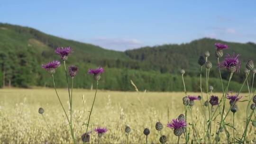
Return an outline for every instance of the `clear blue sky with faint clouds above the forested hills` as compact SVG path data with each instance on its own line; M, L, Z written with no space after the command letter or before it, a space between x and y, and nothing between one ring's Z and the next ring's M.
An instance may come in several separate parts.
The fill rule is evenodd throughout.
M202 37L256 43L256 0L5 0L0 22L119 51Z

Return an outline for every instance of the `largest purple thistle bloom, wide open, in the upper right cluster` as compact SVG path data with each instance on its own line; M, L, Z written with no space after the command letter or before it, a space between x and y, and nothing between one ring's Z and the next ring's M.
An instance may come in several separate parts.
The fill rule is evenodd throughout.
M235 53L233 55L227 54L226 58L224 59L223 62L219 64L219 66L226 68L228 70L230 69L232 70L235 68L235 70L239 72L240 65L241 65L240 61L238 60L239 56L240 56L239 54L236 55Z

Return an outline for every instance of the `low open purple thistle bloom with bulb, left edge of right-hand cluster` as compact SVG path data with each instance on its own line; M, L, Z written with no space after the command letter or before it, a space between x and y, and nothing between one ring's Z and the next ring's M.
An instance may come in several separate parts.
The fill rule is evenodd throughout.
M167 124L167 127L174 129L174 135L180 136L183 134L183 127L186 127L187 124L183 120L173 119L171 123Z

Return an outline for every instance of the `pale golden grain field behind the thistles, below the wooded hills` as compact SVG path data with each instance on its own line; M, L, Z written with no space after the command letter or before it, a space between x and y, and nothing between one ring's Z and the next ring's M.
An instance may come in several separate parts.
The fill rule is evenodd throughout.
M68 109L66 89L58 90L64 107ZM73 125L77 141L82 143L81 135L85 132L88 110L94 97L94 90L73 90ZM200 93L189 92L191 95ZM215 93L221 96L220 93ZM245 94L242 94L245 95ZM149 143L159 143L159 133L155 123L164 124L163 135L167 143L176 143L173 130L166 127L168 121L183 113L183 92L121 92L100 90L92 111L90 130L101 126L108 129L101 143L126 143L125 126L131 128L128 143L145 143L144 128L150 129ZM205 96L204 96L205 97ZM246 98L243 98L246 99ZM240 137L245 128L245 102L239 102L235 115L236 135ZM44 117L38 114L38 108L45 109ZM192 107L192 117L201 138L204 136L204 121L201 115L200 101ZM188 121L191 121L190 114ZM212 124L215 136L217 122ZM232 114L227 118L232 124ZM189 126L191 129L191 126ZM55 95L54 89L1 89L0 90L0 143L72 143L68 122ZM228 127L230 137L232 129ZM192 129L190 130L192 131ZM247 138L254 139L256 129L249 126ZM212 136L212 139L214 139ZM225 143L225 133L221 133L221 142ZM192 139L192 134L191 134ZM97 143L97 134L91 133L91 142ZM181 136L181 143L184 137Z

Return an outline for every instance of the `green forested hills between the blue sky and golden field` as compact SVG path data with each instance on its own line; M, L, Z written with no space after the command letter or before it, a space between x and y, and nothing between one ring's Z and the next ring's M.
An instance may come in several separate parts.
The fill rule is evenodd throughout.
M235 74L231 83L231 90L236 91L244 79L243 69L247 60L256 61L254 43L240 44L202 38L187 44L158 45L118 52L47 35L30 27L0 23L0 87L52 87L51 77L41 68L41 64L52 60L61 61L54 53L55 49L59 46L71 46L74 52L69 56L67 64L77 65L79 68L74 79L75 88L90 89L93 80L87 70L102 66L105 72L99 87L103 90L134 90L130 83L132 80L139 90L181 91L183 84L179 71L184 69L187 90L198 91L200 65L197 64L197 59L208 50L213 63L210 85L215 90L221 90L217 59L214 56L216 42L229 45L224 54L241 54L241 72ZM229 72L223 70L222 75L227 80ZM58 87L66 86L64 76L62 65L55 74ZM252 74L249 82L251 79Z

